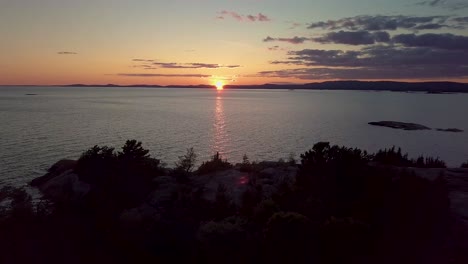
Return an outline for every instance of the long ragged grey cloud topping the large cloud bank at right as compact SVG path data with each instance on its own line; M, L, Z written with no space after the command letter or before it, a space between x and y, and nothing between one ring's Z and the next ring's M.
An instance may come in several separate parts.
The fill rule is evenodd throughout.
M425 27L450 27L445 22L446 16L356 16L338 20L319 21L309 24L309 29L321 28L327 30L353 30L353 31L384 31L397 29L418 30Z

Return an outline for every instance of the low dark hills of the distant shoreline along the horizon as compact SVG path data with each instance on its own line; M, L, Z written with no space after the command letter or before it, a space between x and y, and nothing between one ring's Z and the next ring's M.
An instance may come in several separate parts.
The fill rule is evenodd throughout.
M213 85L118 85L118 84L69 84L69 85L0 85L0 87L123 87L123 88L210 88ZM393 91L427 92L430 94L468 93L468 83L458 82L390 82L390 81L328 81L307 84L261 84L261 85L225 85L225 89L266 89L266 90L345 90L345 91Z

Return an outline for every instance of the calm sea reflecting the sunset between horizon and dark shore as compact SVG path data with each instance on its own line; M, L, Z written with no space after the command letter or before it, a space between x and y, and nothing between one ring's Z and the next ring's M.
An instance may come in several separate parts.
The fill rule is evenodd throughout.
M37 94L37 95L26 95ZM23 185L93 145L143 141L169 166L189 147L198 160L299 157L318 141L411 157L468 159L468 132L402 131L395 120L468 130L468 94L151 88L0 88L0 184Z

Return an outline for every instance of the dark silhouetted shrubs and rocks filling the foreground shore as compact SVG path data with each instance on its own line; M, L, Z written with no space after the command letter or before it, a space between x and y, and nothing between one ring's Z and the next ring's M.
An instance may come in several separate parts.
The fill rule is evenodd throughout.
M217 153L195 170L195 161L189 149L165 168L132 140L62 163L77 181L59 196L33 201L4 187L0 263L466 263L450 249L443 176L394 167L445 167L439 159L321 142L300 164L233 165ZM60 166L32 184L41 189ZM226 170L246 175L243 192L219 184L210 198L201 179ZM297 173L266 173L287 170Z

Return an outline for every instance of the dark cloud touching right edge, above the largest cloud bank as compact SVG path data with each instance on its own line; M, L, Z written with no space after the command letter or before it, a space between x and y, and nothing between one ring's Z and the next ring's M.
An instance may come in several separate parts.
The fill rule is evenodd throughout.
M401 34L392 38L394 43L406 47L431 47L446 50L468 51L468 37L453 34Z

